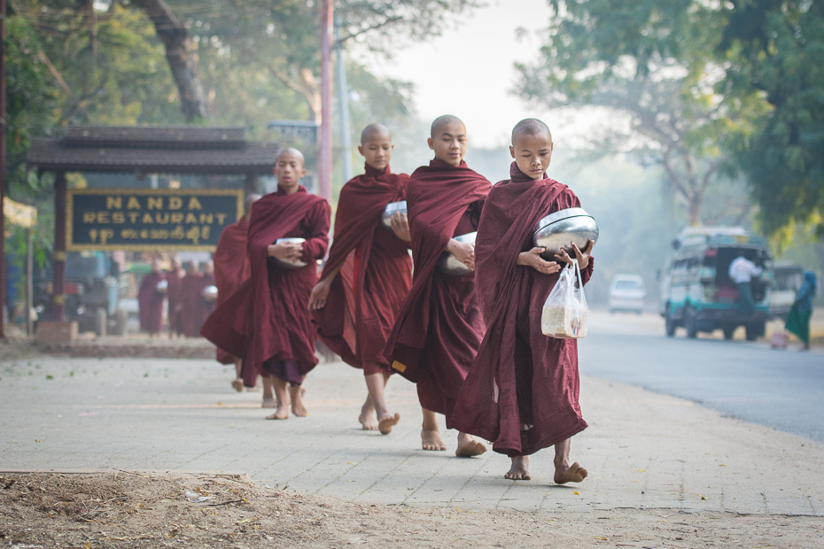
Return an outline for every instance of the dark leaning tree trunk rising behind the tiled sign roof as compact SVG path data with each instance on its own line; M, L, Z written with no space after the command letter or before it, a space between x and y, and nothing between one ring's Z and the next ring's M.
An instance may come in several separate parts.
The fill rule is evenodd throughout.
M209 118L206 96L198 76L198 64L191 52L189 33L163 0L132 0L132 5L152 19L158 38L166 45L166 58L180 92L183 117L187 122Z

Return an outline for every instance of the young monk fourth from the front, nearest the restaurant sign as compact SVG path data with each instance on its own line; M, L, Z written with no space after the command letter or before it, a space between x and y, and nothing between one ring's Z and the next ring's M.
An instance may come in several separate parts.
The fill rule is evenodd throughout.
M317 334L307 309L317 283L317 259L329 244L330 206L299 184L306 174L303 155L285 149L275 161L276 192L252 206L248 254L252 278L229 296L209 318L203 335L235 356L244 356L244 383L253 386L258 375L271 376L276 412L270 420L307 415L301 383L315 367ZM304 238L281 243L280 238ZM300 261L289 269L279 261ZM289 388L287 390L287 384Z

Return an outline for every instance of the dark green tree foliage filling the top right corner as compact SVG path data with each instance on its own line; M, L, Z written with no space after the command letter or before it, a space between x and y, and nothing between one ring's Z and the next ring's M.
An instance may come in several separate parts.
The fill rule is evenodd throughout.
M768 103L731 140L763 228L824 239L824 3L735 0L718 50L727 104Z

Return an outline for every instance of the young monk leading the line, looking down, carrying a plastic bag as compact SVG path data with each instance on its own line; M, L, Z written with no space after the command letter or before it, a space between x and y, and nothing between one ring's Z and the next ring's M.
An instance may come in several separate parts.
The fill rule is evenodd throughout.
M532 247L541 218L580 202L547 177L552 136L543 122L519 122L510 152L511 179L493 187L478 225L476 281L486 336L452 421L509 455L507 478L529 480L528 456L554 445L555 482L581 482L587 470L570 463L570 438L587 428L578 402L577 342L540 330L544 301L561 270L558 261L573 268L572 259L563 251L558 261L546 261L539 255L544 249ZM584 251L571 245L585 283L593 271L592 248L592 241Z

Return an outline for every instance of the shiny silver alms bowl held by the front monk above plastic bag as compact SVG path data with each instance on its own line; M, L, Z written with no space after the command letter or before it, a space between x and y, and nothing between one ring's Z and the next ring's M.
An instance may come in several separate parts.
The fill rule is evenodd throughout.
M536 246L547 249L540 256L548 261L557 259L555 254L561 253L562 249L570 253L573 242L583 250L589 240L598 241L598 225L584 208L567 208L550 213L538 221L532 236Z

